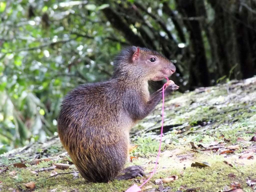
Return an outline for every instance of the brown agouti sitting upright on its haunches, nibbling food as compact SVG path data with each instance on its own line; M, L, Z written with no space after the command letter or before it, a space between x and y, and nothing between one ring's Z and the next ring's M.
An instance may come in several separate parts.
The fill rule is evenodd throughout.
M92 182L144 175L141 166L122 170L129 153L129 132L162 99L162 89L150 95L148 81L162 80L176 70L156 51L139 47L122 50L114 66L109 81L80 85L70 91L58 118L63 146L82 177ZM165 95L178 89L176 84L167 85Z

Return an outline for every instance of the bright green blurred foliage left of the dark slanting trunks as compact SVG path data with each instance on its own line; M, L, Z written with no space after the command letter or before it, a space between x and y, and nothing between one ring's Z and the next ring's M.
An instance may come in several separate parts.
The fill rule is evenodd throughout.
M45 141L57 130L63 95L110 78L110 58L124 39L99 20L106 6L0 2L0 154Z

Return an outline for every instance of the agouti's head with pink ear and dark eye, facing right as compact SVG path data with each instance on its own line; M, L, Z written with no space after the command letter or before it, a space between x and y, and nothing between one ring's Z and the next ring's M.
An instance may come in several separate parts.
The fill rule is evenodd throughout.
M129 47L115 58L113 78L127 77L145 80L162 80L176 67L166 57L146 48Z

